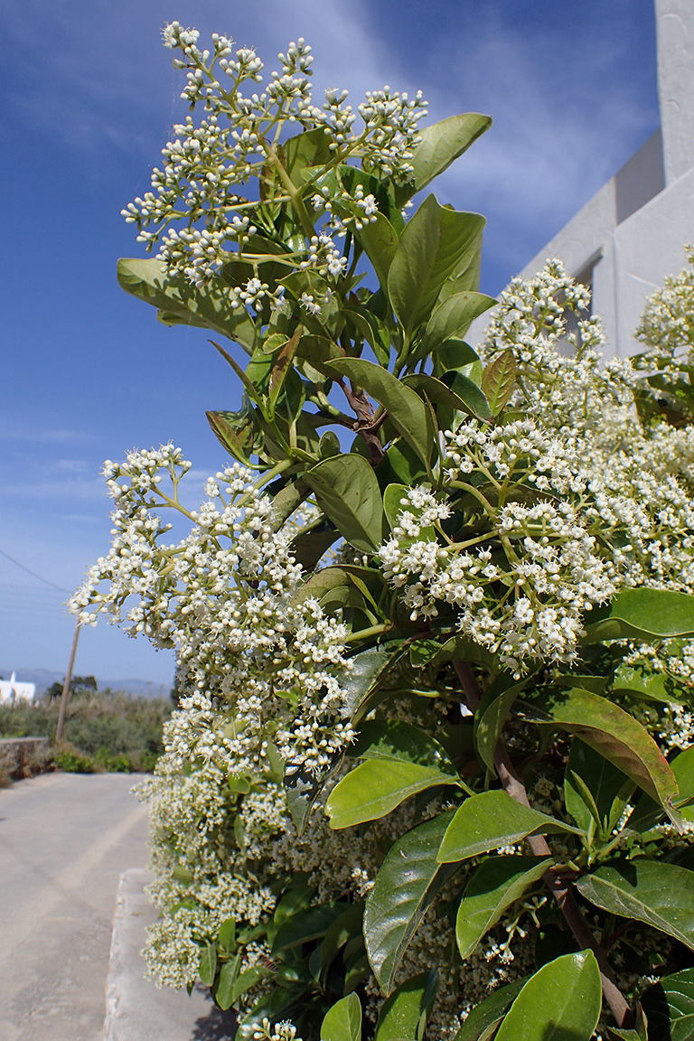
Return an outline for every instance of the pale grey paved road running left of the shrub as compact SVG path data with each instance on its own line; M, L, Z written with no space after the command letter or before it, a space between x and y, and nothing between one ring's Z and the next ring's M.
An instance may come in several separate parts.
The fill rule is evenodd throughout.
M0 790L0 1041L100 1041L115 892L147 861L122 773Z

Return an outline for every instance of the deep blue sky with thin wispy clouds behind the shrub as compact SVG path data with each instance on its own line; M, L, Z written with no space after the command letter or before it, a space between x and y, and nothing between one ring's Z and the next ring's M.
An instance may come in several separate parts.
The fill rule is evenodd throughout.
M103 459L172 439L212 473L223 453L205 409L238 398L203 330L165 329L115 282L117 258L142 255L120 211L184 112L165 22L230 34L271 67L304 35L316 96L389 83L420 87L432 122L491 115L437 185L487 215L491 294L659 124L651 0L0 0L0 553L66 590L107 548ZM63 599L0 555L0 668L65 669ZM76 669L168 683L173 659L103 625Z

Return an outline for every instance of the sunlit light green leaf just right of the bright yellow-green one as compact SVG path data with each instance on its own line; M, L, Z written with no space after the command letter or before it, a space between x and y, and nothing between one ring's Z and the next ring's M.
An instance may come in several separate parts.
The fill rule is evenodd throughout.
M466 798L443 836L438 860L449 863L520 842L529 835L577 833L575 828L516 803L505 791L483 791Z

